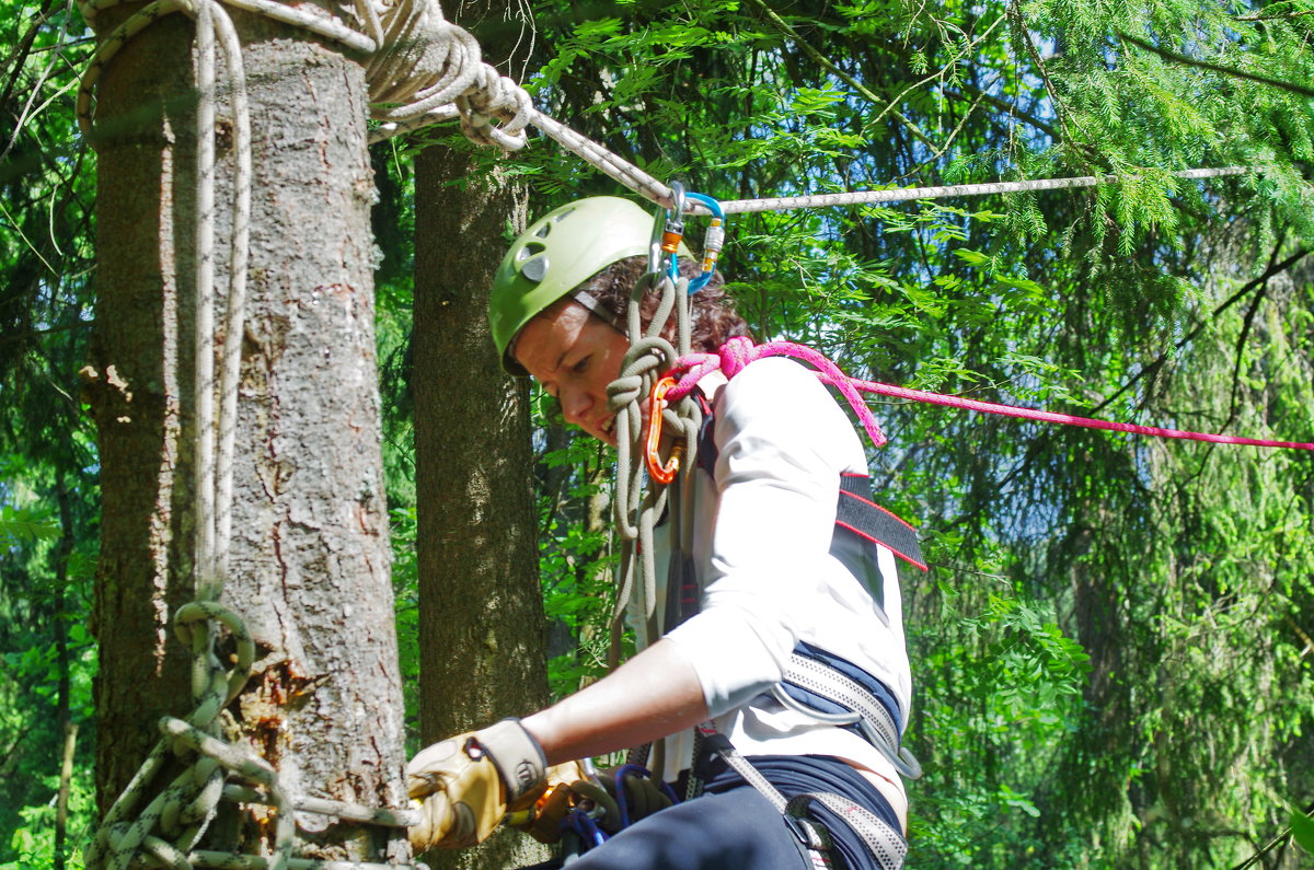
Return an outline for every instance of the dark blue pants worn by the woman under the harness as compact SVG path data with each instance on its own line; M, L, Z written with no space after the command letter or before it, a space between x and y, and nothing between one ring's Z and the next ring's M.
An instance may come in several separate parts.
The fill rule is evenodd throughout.
M895 831L890 803L849 765L817 756L757 756L753 766L786 798L832 791L876 813ZM862 840L834 813L812 806L846 870L879 870ZM540 865L543 870L560 862ZM716 762L707 794L648 816L572 861L569 870L803 870L809 865L781 813L738 774Z

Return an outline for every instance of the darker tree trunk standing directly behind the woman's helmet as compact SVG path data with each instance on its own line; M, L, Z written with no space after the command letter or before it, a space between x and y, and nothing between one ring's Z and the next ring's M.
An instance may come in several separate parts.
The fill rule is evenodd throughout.
M466 4L466 7L478 4ZM491 4L482 4L491 7ZM484 45L485 54L499 57ZM463 179L460 184L453 181ZM547 703L528 389L503 375L487 293L524 187L434 146L415 163L415 477L424 743ZM435 867L541 861L518 835Z

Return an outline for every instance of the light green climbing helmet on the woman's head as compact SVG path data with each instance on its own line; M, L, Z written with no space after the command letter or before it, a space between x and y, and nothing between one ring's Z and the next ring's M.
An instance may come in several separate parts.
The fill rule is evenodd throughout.
M527 372L507 348L545 308L618 260L648 254L653 216L629 200L594 196L539 218L502 258L489 297L489 326L502 368Z

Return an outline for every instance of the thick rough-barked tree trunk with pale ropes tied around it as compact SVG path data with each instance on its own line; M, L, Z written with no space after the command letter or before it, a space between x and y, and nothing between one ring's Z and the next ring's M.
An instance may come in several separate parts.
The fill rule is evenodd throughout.
M117 22L101 18L101 33ZM251 16L235 24L251 92L254 188L221 601L246 620L258 661L225 712L226 729L279 770L293 799L401 807L364 75L304 33ZM170 640L168 620L193 593L192 33L181 14L148 26L110 63L99 99L91 392L104 486L96 599L102 811L154 744L155 720L189 710L188 656ZM221 134L231 130L225 84L221 72ZM222 135L218 159L222 304L233 184ZM267 837L264 816L252 810L217 824L204 845L254 852ZM297 823L297 852L306 857L409 854L396 829L380 835L302 812Z

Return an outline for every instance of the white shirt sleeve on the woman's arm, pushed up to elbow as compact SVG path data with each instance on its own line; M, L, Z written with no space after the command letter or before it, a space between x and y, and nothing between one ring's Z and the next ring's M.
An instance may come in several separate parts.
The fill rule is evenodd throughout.
M668 637L698 673L712 716L778 682L799 615L821 589L840 472L865 465L849 418L786 359L736 375L716 406L719 509L698 615Z

